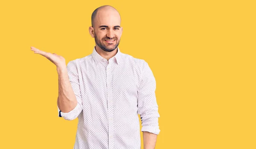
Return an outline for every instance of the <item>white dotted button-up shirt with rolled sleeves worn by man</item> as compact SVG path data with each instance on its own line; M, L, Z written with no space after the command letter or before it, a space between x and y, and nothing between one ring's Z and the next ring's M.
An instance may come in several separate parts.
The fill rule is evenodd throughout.
M117 48L109 60L93 52L68 62L67 72L78 104L58 116L78 118L73 149L141 149L141 131L159 134L156 81L143 59Z

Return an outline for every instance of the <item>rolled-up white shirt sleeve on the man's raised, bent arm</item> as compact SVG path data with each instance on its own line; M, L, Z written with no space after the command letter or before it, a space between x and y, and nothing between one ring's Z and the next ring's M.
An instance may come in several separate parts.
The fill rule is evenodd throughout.
M75 60L70 61L67 64L67 74L68 74L72 89L76 95L77 105L70 112L61 112L58 105L57 105L57 108L58 108L58 117L63 117L64 119L71 121L73 119L76 119L78 117L78 115L81 113L81 111L83 110L80 84L79 84L79 76L78 76L78 68L77 68Z

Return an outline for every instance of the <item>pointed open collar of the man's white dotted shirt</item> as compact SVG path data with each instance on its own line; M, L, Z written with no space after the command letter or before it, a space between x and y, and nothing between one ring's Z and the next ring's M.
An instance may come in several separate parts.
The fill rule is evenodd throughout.
M105 59L104 57L102 57L101 55L99 55L99 53L96 51L95 46L93 48L93 60L98 64L99 62L104 62L107 61L107 59ZM120 49L117 47L117 53L115 56L111 57L114 59L114 62L116 62L116 64L120 64L121 62L121 51Z

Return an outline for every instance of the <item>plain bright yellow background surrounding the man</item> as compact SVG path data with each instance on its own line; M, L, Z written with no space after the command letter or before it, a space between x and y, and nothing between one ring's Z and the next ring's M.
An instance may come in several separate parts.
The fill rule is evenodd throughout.
M58 118L56 67L30 47L89 55L102 5L121 14L120 50L156 78L156 149L256 149L253 0L1 1L0 149L73 149L78 119Z

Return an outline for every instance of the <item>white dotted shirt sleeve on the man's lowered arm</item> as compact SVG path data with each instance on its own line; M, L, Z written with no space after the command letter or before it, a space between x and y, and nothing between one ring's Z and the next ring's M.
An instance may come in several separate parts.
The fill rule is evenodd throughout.
M141 131L159 134L158 126L158 105L155 96L156 80L148 66L148 63L143 60L143 71L138 88L138 114L142 123Z

